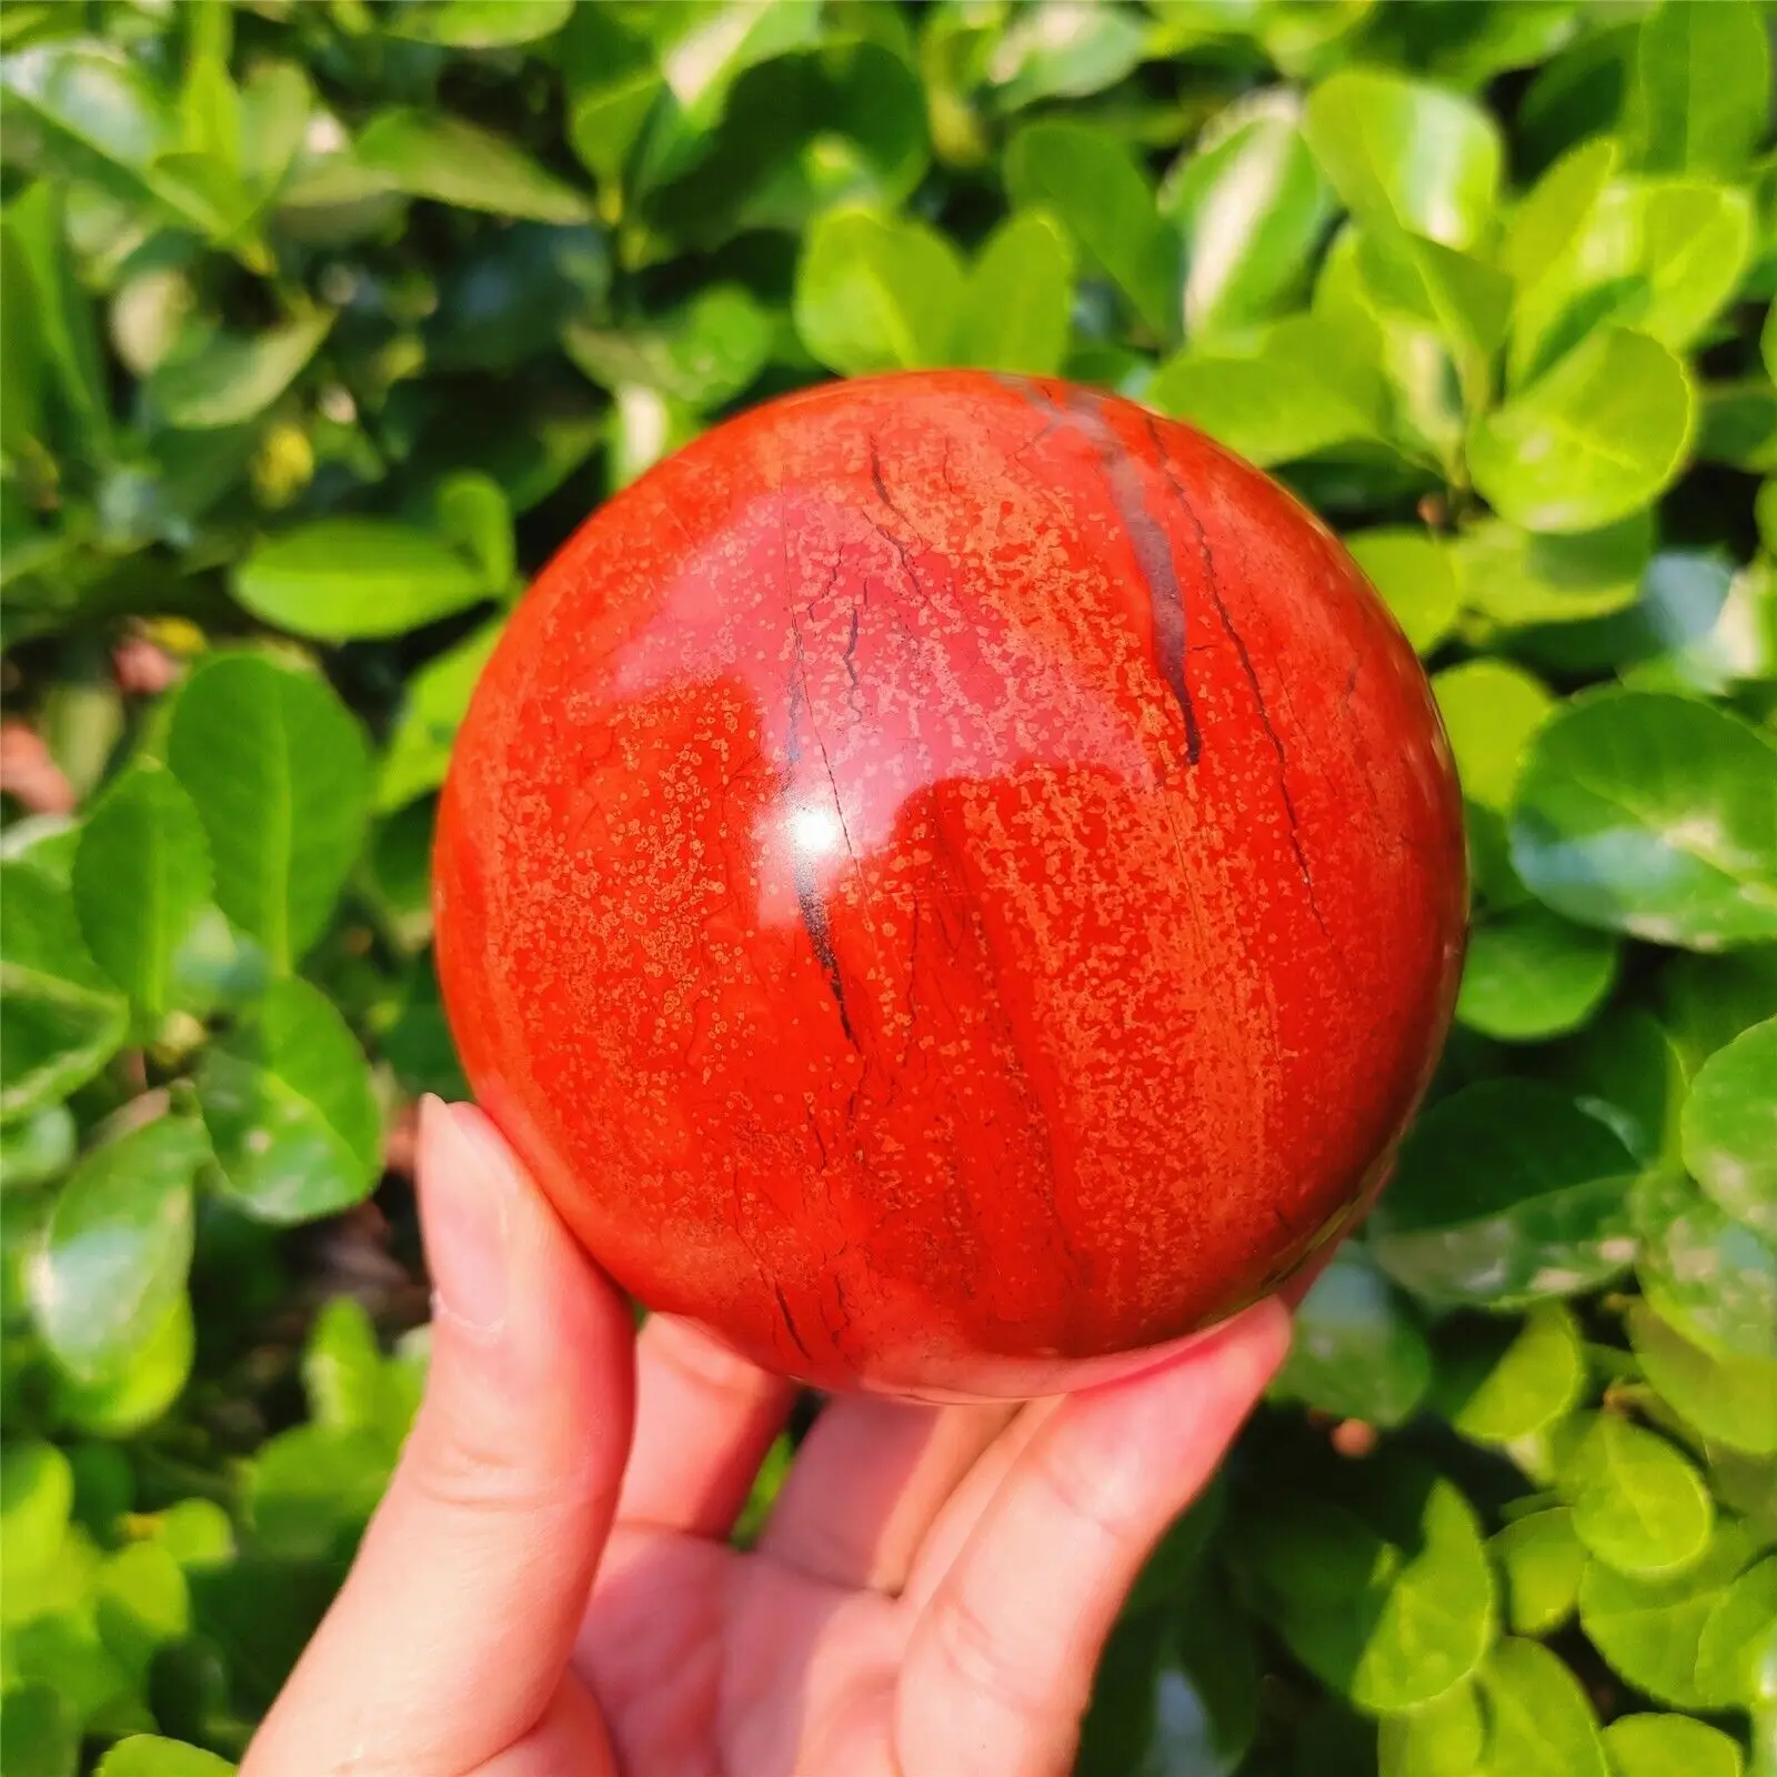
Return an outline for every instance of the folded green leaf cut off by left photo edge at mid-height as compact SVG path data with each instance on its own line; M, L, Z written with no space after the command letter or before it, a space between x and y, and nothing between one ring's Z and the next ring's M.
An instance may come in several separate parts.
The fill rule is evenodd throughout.
M34 864L0 864L0 1121L84 1086L130 1027L123 995L94 965L66 883Z

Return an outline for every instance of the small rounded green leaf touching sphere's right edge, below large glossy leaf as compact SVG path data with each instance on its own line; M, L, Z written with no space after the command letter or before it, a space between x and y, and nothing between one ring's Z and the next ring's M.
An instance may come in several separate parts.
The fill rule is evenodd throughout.
M1617 979L1617 942L1542 906L1509 908L1470 933L1461 1024L1500 1043L1578 1031Z

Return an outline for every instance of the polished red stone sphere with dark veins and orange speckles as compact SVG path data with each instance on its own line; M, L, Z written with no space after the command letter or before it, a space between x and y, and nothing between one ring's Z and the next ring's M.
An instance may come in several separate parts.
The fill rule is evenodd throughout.
M826 1388L1047 1393L1374 1192L1462 821L1338 540L974 371L705 434L544 572L437 841L476 1095L626 1288Z

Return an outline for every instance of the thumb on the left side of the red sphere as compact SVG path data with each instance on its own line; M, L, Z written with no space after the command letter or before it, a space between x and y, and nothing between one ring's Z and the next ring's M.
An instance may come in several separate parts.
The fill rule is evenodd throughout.
M428 1098L418 1173L426 1397L243 1777L457 1777L522 1740L562 1686L611 1526L629 1308L482 1112Z

